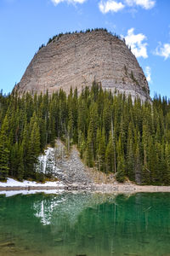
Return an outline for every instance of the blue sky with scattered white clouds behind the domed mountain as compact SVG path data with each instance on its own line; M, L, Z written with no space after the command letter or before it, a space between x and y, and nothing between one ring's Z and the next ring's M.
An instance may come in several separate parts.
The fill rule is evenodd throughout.
M0 0L0 89L13 90L48 38L97 27L126 39L151 97L170 98L169 0Z

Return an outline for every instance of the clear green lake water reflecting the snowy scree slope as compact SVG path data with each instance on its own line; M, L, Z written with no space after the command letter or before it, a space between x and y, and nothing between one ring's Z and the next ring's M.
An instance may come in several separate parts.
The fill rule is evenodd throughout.
M170 255L170 193L0 195L3 255Z

